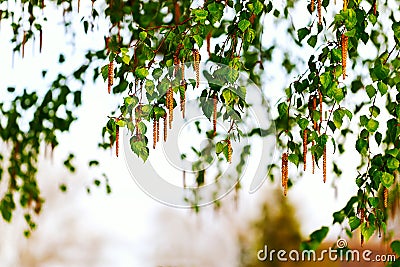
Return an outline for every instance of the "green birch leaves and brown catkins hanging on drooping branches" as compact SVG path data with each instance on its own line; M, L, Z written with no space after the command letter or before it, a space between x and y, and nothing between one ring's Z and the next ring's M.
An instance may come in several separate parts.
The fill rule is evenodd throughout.
M261 85L266 81L264 74L274 75L272 68L281 72L285 94L274 110L283 157L282 166L270 166L271 179L279 177L282 168L286 191L296 181L289 177L289 170L297 168L299 175L300 169L306 170L308 153L312 168L317 165L323 169L324 181L327 163L340 177L343 157L332 161L327 147L342 155L353 149L345 144L346 139L354 138L361 161L356 166L358 175L352 179L359 190L333 215L333 223L348 222L348 234L361 228L362 239L368 240L375 232L386 232L389 210L395 209L399 199L399 1L337 2L288 0L282 6L264 0L107 0L93 1L91 12L83 14L79 13L79 0L33 0L17 5L2 1L0 19L11 25L14 52L22 56L34 38L39 39L41 50L42 35L46 34L42 31L42 10L46 5L64 10L67 29L71 17L81 17L88 35L101 31L96 27L106 21L109 28L100 33L104 35L103 48L89 49L86 63L71 77L83 85L88 78L85 74L93 70L94 80L103 77L109 93L121 97L122 105L104 127L100 146L108 149L115 144L118 149L119 128L127 127L132 133L132 150L144 161L151 153L152 133L147 122L154 126L153 139L158 139L161 121L172 121L173 110L185 104L186 91L199 87L200 60L228 66L204 73L206 79L219 77L222 85L200 87L199 101L210 121L232 124L223 137L215 137L214 144L227 161L235 157L231 142L240 142L246 134L234 127L247 105L246 91L235 87L237 73L247 72ZM189 67L196 72L195 79L185 78ZM171 71L163 72L168 68ZM11 220L18 197L28 223L34 226L30 211L39 213L43 201L35 179L40 147L57 146L58 134L69 130L76 119L74 110L81 105L82 88L70 88L69 78L60 74L43 97L28 90L15 96L11 105L0 104L1 138L11 148L7 157L1 157L7 167L0 168L0 178L8 177L9 181L0 202L6 221ZM268 84L263 88L266 95L274 90ZM13 93L14 89L8 91ZM218 112L216 104L223 104ZM181 110L184 112L184 107ZM34 113L29 130L21 127L21 116L26 112ZM251 133L271 134L262 129ZM213 131L206 134L215 136ZM73 168L68 160L66 166ZM198 178L200 186L204 173ZM323 239L318 233L310 238L312 247Z

